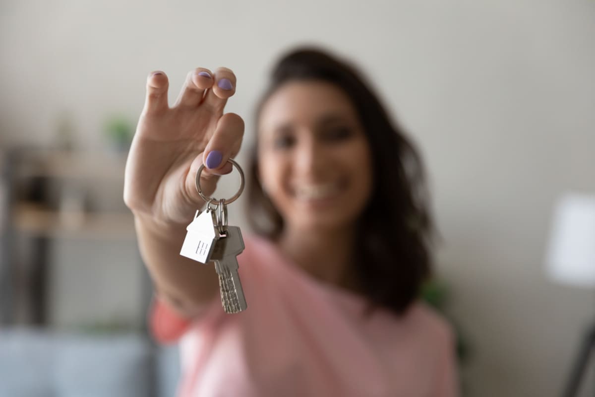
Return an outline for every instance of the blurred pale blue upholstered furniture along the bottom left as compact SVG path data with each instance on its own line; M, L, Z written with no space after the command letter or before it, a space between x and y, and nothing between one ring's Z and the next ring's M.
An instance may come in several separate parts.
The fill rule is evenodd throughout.
M142 334L0 331L0 396L171 397L179 374L177 346Z

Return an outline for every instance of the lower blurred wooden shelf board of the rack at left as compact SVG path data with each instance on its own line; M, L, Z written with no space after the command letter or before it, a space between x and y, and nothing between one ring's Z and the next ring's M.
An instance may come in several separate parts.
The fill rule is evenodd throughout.
M126 212L60 212L35 204L18 204L17 232L38 237L73 239L135 239L134 218Z

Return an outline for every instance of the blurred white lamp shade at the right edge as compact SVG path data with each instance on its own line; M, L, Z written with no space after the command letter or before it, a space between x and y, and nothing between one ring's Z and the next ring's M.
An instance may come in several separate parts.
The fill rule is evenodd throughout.
M595 196L568 193L560 199L547 249L553 280L595 286Z

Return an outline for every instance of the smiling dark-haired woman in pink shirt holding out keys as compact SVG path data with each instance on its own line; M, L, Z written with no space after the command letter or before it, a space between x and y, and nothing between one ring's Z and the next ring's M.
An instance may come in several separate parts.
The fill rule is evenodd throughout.
M155 336L181 340L182 396L455 396L452 335L418 302L431 268L422 165L359 73L317 49L274 68L256 113L239 273L224 314L211 266L180 257L244 123L233 71L188 74L174 107L148 77L124 199L155 283Z

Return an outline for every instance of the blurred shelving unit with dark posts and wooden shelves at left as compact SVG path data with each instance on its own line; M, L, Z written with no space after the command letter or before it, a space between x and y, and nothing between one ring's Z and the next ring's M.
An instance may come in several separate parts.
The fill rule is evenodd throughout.
M22 265L17 241L31 246L26 301L30 324L48 322L48 275L51 243L57 239L101 242L130 240L134 220L123 202L101 208L99 193L121 198L125 154L18 148L8 151L0 168L5 187L2 262L0 262L0 325L14 324L19 299L15 287ZM73 189L74 186L74 189ZM101 196L101 194L100 194ZM113 196L113 195L112 195ZM115 207L115 208L113 208ZM139 258L140 262L140 258ZM145 272L146 273L146 272ZM143 273L143 302L150 299L151 284Z

